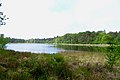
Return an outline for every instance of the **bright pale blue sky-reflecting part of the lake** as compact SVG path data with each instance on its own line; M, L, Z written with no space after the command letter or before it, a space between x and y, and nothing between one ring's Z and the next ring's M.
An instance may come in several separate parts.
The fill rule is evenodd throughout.
M19 52L32 53L58 53L64 51L62 48L55 47L54 44L35 44L35 43L11 43L6 45L6 49Z

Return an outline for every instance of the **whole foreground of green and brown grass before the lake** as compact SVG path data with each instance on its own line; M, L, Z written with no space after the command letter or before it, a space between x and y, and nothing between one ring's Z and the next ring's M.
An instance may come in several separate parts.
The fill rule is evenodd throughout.
M109 71L104 53L32 54L0 50L0 80L119 80L120 60Z

